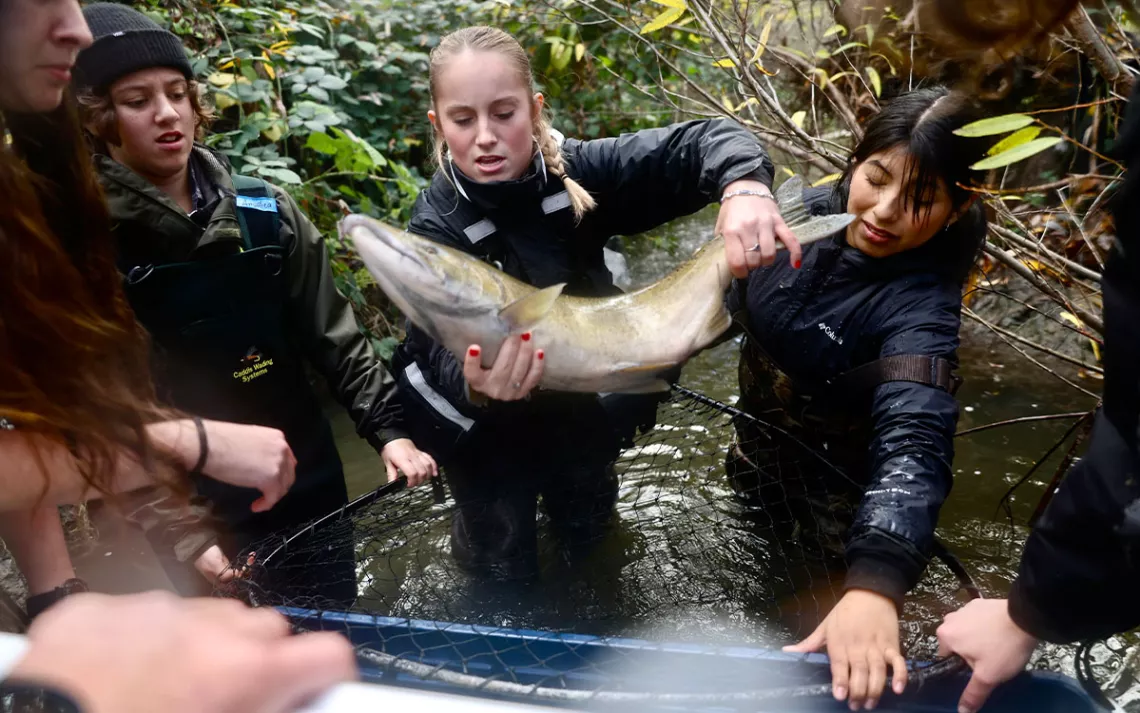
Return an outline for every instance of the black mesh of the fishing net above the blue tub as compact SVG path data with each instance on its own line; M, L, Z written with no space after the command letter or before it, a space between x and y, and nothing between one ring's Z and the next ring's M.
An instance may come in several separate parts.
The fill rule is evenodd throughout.
M730 454L749 445L742 434L750 431L734 426L742 418L697 392L670 395L656 426L613 464L608 517L584 513L604 527L567 537L551 508L538 510L534 576L456 557L451 497L439 502L432 488L398 481L256 545L242 595L291 608L307 627L327 627L336 613L358 629L363 661L421 679L451 672L483 688L496 681L594 697L825 691L819 661L776 655L763 673L757 665L759 651L811 633L841 594L841 503L852 486L787 438L759 484L731 477L739 463ZM937 622L964 599L954 573L931 564L907 598L907 656L933 658ZM700 642L702 654L676 670L673 655L695 650L685 642Z

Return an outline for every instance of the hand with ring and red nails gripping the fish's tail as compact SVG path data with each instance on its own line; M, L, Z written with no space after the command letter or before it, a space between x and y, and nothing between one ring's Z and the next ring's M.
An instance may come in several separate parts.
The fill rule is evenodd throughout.
M749 272L772 265L776 259L776 241L788 248L791 264L799 266L803 258L799 241L784 224L767 186L758 180L736 180L725 187L720 201L716 235L724 236L733 277L748 277Z

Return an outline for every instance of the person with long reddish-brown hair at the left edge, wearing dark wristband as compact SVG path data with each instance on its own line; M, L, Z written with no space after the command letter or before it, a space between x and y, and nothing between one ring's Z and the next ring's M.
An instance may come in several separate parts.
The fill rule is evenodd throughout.
M91 37L49 5L0 3L0 529L33 614L75 589L55 505L158 484L116 502L161 502L142 525L195 558L213 537L185 507L184 473L256 488L267 510L294 468L277 430L155 405L147 338L123 299L75 108L62 105Z

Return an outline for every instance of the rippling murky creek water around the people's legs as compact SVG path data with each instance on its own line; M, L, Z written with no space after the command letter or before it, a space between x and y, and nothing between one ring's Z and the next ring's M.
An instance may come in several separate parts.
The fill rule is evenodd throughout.
M643 285L667 274L711 237L714 220L715 214L706 211L658 232L659 241L630 241L628 258L633 284ZM960 375L966 381L958 392L963 407L960 430L1007 419L1081 412L1092 407L1091 398L1029 365L1001 342L970 329L963 331ZM722 345L692 359L682 383L732 404L736 394L736 345ZM1067 375L1076 379L1072 373ZM1096 382L1086 381L1084 386L1092 391L1099 390ZM356 437L343 412L331 412L331 415L350 494L372 491L384 475L378 456ZM663 418L662 421L668 423L669 419ZM1061 438L1072 422L1057 420L1008 426L967 435L956 441L954 489L942 511L938 534L959 556L986 595L1002 595L1016 575L1027 533L1024 522L1057 470L1065 448L1048 459L1009 499L1015 525L1004 513L997 512L999 501ZM673 443L665 441L660 447L676 447ZM682 444L682 447L685 445ZM708 445L697 447L707 448ZM592 559L591 566L620 570L620 586L613 591L598 591L581 570L565 569L561 577L556 572L546 572L545 583L537 589L524 594L518 590L500 593L503 609L490 616L490 621L487 605L496 594L482 591L481 606L479 610L466 611L469 618L482 617L498 625L553 630L580 630L584 626L591 633L626 634L632 633L630 623L644 621L651 623L646 626L665 632L666 638L674 640L697 638L730 642L732 637L743 637L749 641L779 639L781 634L785 637L781 624L766 618L763 611L750 609L752 602L763 599L762 592L754 591L763 589L763 577L757 576L757 558L763 559L763 552L750 550L747 542L741 541L744 544L722 548L723 551L710 554L710 548L692 542L697 537L686 541L684 536L686 527L699 536L700 527L693 524L723 525L725 513L719 503L728 500L723 492L725 486L707 477L716 468L722 468L719 459L723 457L723 449L707 454L705 460L693 460L692 454L684 460L669 456L666 452L649 455L653 456L653 463L671 461L674 465L651 464L641 471L629 471L634 475L625 477L619 500L621 524L617 534ZM679 463L687 463L690 471L695 468L699 478L685 469L676 469ZM686 485L678 489L677 483L685 478L694 481L689 484L691 487ZM426 499L426 495L423 497ZM361 564L361 569L368 570L377 558L382 560L381 565L391 568L393 558L404 552L412 564L399 567L402 576L386 584L374 583L383 607L393 611L401 608L407 613L415 610L417 616L450 616L456 617L450 621L458 621L464 610L455 606L458 599L454 593L457 586L463 589L471 583L462 581L454 564L448 561L448 519L439 509L435 513L400 533L399 542L386 541L384 546L366 554L368 561ZM674 532L657 532L668 529ZM431 545L424 546L425 542ZM686 542L690 546L684 546ZM676 543L683 544L678 548ZM665 551L652 551L653 548L663 548ZM434 552L435 556L425 557L425 552ZM430 561L423 561L425 559ZM592 572L596 574L596 570ZM630 582L634 584L630 585ZM955 589L954 580L945 568L931 566L923 583L909 598L903 626L912 656L933 654L930 634L940 616L955 602L962 601L960 594L954 594ZM446 606L441 603L445 601ZM643 633L654 635L652 632ZM1102 682L1119 667L1121 657L1132 646L1132 639L1121 638L1110 640L1109 648L1097 650L1100 663L1098 673ZM1073 674L1069 647L1043 647L1034 663ZM1135 696L1135 688L1117 692L1131 699Z

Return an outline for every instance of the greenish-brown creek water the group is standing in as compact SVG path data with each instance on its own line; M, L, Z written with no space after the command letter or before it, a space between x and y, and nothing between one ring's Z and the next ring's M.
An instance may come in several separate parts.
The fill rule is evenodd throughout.
M627 241L633 285L660 278L692 254L712 237L714 222L715 213L707 210ZM735 342L698 355L686 365L681 383L732 404L738 355ZM963 329L959 356L964 378L958 391L960 430L1093 406L1090 396L975 330ZM1090 391L1099 390L1098 382L1058 368ZM329 405L327 413L350 496L373 491L384 479L380 457L356 436L343 410ZM731 493L722 477L723 459L731 438L724 436L726 428L720 428L720 436L709 435L702 423L711 421L701 419L712 418L662 407L654 435L663 432L674 439L642 443L624 456L616 534L597 548L586 568L544 570L543 584L522 593L484 589L472 594L472 583L464 580L448 551L447 510L431 505L427 488L401 493L389 510L377 502L369 508L374 532L364 532L357 524L356 566L364 608L370 601L381 614L658 640L788 642L787 621L773 619L772 608L762 603L767 602L769 585L780 573L765 569L771 562L763 537L736 537L740 528L725 504ZM1002 595L1016 575L1028 532L1024 524L1065 448L1045 459L1008 497L1012 524L999 503L1072 424L1072 419L1024 422L956 439L954 486L942 510L938 536L987 597ZM682 452L684 457L678 455ZM410 508L401 509L400 499ZM717 533L719 540L711 540L709 533ZM162 585L161 573L145 561L145 543L137 537L116 540L106 529L104 535L92 551L78 558L81 574L97 589L114 592ZM792 600L797 597L806 601L816 592L799 591ZM931 565L907 598L903 615L910 656L934 654L937 623L962 601L953 575ZM1107 683L1118 671L1130 669L1123 662L1135 650L1132 635L1096 647L1098 680ZM1042 647L1034 665L1073 675L1073 649ZM1131 676L1113 680L1110 692L1129 710L1140 711L1140 687Z

